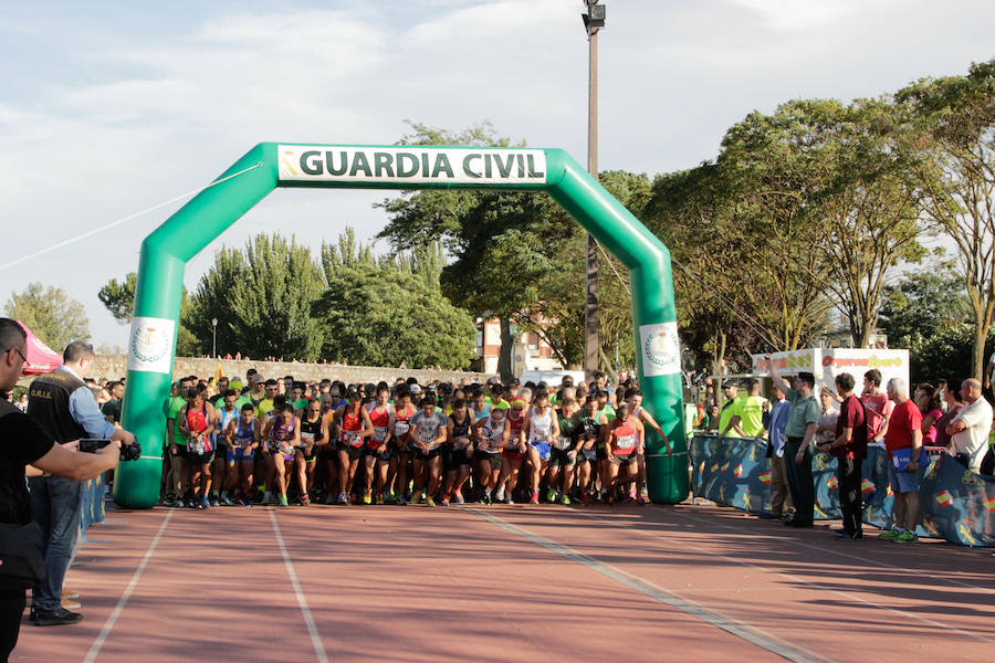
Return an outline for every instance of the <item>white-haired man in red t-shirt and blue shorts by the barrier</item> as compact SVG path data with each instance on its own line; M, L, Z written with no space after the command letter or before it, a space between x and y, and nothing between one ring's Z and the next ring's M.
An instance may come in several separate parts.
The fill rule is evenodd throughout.
M981 385L978 383L978 391ZM901 378L888 380L888 398L894 402L884 434L888 450L888 477L894 492L892 527L881 533L880 538L899 543L918 541L915 526L919 524L919 455L922 449L922 413L909 398L909 388ZM898 470L894 452L910 449L909 464Z

